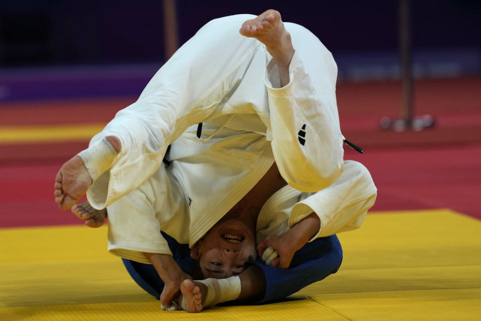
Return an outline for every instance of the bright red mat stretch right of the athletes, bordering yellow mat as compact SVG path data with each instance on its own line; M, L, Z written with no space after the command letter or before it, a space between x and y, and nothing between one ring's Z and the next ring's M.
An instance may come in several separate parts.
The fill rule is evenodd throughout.
M481 144L347 151L378 188L373 211L450 208L481 219Z

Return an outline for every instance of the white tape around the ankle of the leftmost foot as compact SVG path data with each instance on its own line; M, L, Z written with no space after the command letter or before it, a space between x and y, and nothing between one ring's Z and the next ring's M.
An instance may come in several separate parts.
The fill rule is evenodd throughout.
M110 169L112 161L115 156L117 156L117 151L115 151L115 148L112 147L107 138L104 137L77 155L82 158L92 181L95 181L104 174L105 171Z

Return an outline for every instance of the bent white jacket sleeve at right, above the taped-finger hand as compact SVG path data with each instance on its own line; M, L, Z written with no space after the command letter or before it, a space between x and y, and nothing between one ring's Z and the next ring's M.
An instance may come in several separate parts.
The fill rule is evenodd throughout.
M311 239L357 229L374 205L377 189L369 171L360 163L344 162L344 172L334 184L317 193L303 193L292 209L293 227L311 213L321 221L319 233Z

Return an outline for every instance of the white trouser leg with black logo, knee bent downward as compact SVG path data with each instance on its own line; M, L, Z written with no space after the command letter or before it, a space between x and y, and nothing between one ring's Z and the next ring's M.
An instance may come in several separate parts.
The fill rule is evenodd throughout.
M266 69L272 148L286 182L302 192L331 185L343 170L343 136L335 84L337 66L330 52L309 31L289 25L296 50L290 82L279 88L279 69ZM268 134L268 139L270 135Z

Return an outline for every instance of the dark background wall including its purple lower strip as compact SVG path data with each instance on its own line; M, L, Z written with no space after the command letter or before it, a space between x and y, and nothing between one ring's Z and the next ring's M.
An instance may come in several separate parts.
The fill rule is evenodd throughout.
M177 0L180 42L221 16L278 9L333 52L341 79L398 76L395 0ZM161 0L0 1L0 101L138 95L164 61ZM419 77L479 74L481 2L411 1Z

